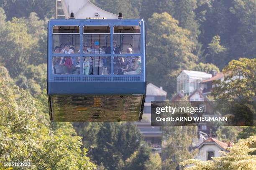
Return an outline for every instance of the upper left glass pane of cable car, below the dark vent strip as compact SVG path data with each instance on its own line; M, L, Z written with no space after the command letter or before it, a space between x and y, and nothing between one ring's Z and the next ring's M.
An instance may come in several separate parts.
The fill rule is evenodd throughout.
M65 48L69 46L69 49ZM73 52L70 52L71 50ZM79 53L80 49L80 35L79 34L54 34L53 35L53 53Z

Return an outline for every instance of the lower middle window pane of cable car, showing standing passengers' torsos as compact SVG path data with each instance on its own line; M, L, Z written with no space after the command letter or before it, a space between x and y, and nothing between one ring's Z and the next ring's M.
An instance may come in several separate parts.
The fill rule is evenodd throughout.
M110 56L83 56L84 75L109 75L111 72Z

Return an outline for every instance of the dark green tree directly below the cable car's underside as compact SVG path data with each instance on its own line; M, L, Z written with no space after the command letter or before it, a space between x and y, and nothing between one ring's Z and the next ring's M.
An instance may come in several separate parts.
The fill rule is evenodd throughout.
M131 164L127 165L126 160L135 152L142 154L140 152L143 151L139 149L142 145L141 133L131 122L121 124L119 122L104 122L100 124L96 138L97 143L92 149L93 160L98 165L103 163L104 167L110 170L130 167ZM136 159L136 161L139 160ZM142 165L143 163L139 162Z

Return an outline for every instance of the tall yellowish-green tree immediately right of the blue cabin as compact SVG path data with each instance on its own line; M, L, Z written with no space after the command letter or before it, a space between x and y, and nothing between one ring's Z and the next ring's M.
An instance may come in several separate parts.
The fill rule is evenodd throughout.
M178 25L168 13L154 13L148 19L147 79L163 86L169 95L175 91L175 79L181 70L197 61L192 53L195 44L188 38L190 32Z

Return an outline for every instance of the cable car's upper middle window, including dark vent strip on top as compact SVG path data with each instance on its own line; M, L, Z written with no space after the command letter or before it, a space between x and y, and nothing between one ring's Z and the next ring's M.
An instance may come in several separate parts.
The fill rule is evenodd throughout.
M107 47L110 47L110 27L109 26L84 26L83 47L87 49L95 49L95 45L105 53ZM87 53L83 50L83 53Z

